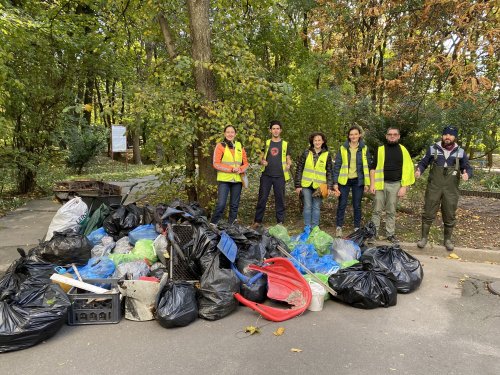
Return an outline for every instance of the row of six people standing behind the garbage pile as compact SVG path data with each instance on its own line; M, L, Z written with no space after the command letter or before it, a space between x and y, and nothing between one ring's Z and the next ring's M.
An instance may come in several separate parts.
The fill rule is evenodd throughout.
M290 180L292 159L288 143L281 139L282 126L279 121L269 124L271 138L259 158L261 176L259 197L252 227L262 226L264 213L271 188L274 192L276 222L285 220L285 186ZM224 140L214 150L213 166L217 170L218 197L211 222L216 224L224 213L229 196L229 223L237 219L244 174L248 168L245 149L235 141L233 126L224 129ZM349 194L354 213L354 230L361 227L361 201L367 192L374 194L371 220L379 233L381 217L385 212L387 240L397 243L396 207L415 178L430 166L425 203L422 215L421 239L418 247L427 244L429 230L441 207L444 222L444 245L447 250L454 248L451 240L456 223L458 206L458 185L460 178L467 180L472 170L467 155L456 143L458 131L447 126L443 129L439 142L431 145L423 159L414 168L408 150L400 144L399 129L387 129L384 145L379 146L373 156L363 141L363 129L353 125L347 132L346 141L333 154L327 146L325 134L314 132L309 136L309 147L302 152L296 162L294 185L296 193L302 197L305 227L319 226L322 200L328 196L338 197L336 214L337 237L342 237L345 210Z

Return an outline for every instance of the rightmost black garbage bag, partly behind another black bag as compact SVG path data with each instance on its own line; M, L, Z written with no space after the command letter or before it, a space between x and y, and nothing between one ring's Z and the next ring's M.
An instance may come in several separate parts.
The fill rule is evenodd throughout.
M386 272L399 293L410 293L422 283L424 270L420 261L399 246L377 246L366 250L360 259Z

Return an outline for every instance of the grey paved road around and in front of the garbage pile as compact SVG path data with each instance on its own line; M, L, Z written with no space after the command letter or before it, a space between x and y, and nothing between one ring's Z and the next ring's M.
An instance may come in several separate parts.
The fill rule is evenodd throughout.
M59 207L33 201L0 218L0 267L45 235ZM500 265L447 259L440 248L407 250L423 263L424 281L388 309L328 301L283 323L239 307L178 329L127 320L64 326L40 345L0 354L0 374L500 374L500 297L485 288L500 280ZM242 338L248 325L261 333ZM278 327L283 336L273 335Z

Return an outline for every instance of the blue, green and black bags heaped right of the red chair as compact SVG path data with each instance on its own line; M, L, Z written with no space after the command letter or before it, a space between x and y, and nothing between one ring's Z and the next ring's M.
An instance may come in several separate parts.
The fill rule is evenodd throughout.
M345 239L332 238L318 227L290 237L276 225L269 232L286 241L293 264L303 274L316 273L328 280L333 297L353 307L372 309L397 303L397 293L410 293L423 279L422 265L397 245L367 248L375 236L372 222Z

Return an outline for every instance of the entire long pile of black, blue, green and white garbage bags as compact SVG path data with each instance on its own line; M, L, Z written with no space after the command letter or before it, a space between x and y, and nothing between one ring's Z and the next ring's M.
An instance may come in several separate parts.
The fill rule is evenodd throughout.
M188 238L179 237L181 227L189 229ZM118 280L125 318L156 319L165 328L222 319L238 307L236 293L261 304L268 279L264 268L252 268L283 254L303 275L316 275L307 275L308 282L333 289L337 300L365 309L393 306L398 292L418 288L422 267L397 246L367 248L374 235L372 223L345 239L318 227L290 236L283 225L263 233L213 225L198 203L179 200L156 207L103 204L89 217L77 197L58 210L46 240L27 254L20 251L0 280L0 352L35 345L66 322L69 286L51 282L53 273Z

